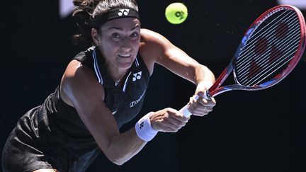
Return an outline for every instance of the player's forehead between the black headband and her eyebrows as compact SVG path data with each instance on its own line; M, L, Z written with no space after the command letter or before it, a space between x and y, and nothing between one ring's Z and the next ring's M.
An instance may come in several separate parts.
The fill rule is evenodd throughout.
M108 21L102 25L102 30L109 30L111 28L118 28L120 30L130 30L133 28L140 28L140 21L137 18L117 18Z

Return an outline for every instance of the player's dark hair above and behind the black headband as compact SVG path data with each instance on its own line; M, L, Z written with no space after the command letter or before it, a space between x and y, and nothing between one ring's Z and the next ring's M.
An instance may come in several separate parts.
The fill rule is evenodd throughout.
M72 37L74 45L94 45L91 38L91 18L113 8L129 7L138 11L135 0L74 0L73 17L79 18L77 25L80 33Z

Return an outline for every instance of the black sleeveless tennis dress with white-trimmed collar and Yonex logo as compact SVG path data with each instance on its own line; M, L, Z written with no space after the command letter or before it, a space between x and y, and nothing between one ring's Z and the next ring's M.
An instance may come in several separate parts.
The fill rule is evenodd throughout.
M94 71L105 90L104 102L113 113L118 127L139 112L149 83L149 71L137 56L123 88L108 76L106 63L98 48L91 47L74 57ZM64 103L57 87L42 105L29 110L18 120L2 153L4 172L56 168L58 171L85 171L101 152L81 121L77 110Z

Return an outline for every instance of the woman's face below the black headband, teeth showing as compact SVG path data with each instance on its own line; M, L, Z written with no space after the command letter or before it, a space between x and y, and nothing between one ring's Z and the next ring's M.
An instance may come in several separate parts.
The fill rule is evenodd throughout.
M98 45L108 67L128 69L140 47L140 21L137 18L118 18L101 26Z

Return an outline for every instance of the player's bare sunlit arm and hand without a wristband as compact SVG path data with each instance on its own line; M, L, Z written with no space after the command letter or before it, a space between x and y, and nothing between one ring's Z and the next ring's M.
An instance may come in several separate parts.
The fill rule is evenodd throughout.
M215 76L208 67L196 62L164 36L146 29L141 30L141 35L140 54L145 59L151 74L154 64L161 64L174 74L196 84L195 95L199 97L203 96L204 91L215 82ZM193 96L189 102L189 110L193 115L205 115L212 110L213 106L215 106L214 99L208 101L199 98L196 100Z

